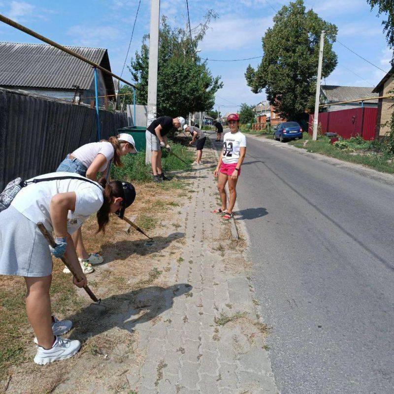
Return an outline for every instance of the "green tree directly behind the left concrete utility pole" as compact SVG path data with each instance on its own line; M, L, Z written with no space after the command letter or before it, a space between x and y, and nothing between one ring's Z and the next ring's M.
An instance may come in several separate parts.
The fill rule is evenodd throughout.
M209 23L217 14L210 10L193 30L193 47L188 30L171 28L163 16L159 31L158 116L187 116L189 112L206 111L215 103L215 93L223 87L220 77L212 76L206 62L196 54ZM131 59L131 74L136 81L137 103L148 98L149 35L143 38L140 52Z

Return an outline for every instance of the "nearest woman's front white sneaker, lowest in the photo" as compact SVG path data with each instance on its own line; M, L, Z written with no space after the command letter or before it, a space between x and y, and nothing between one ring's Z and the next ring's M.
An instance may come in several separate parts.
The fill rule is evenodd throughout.
M34 357L34 362L39 365L45 365L53 361L66 360L74 356L80 347L81 343L76 339L71 340L57 336L51 349L46 350L37 345L37 354Z

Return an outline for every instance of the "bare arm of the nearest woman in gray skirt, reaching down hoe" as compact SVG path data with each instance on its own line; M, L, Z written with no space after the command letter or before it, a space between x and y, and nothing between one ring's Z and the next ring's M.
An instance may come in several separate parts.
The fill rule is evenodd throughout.
M76 198L75 192L59 193L53 196L49 205L49 214L51 217L52 227L55 232L55 237L66 238L67 246L64 256L67 263L69 263L74 269L74 272L82 278L82 281L80 282L74 278L73 282L78 287L84 287L87 284L86 276L82 272L81 265L79 264L71 235L67 231L68 211L75 210Z

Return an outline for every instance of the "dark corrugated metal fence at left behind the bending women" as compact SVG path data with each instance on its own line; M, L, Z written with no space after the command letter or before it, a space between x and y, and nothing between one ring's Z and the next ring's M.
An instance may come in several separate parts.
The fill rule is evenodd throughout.
M127 126L126 113L100 111L101 138ZM96 110L0 89L0 191L18 176L55 171L67 153L97 140Z

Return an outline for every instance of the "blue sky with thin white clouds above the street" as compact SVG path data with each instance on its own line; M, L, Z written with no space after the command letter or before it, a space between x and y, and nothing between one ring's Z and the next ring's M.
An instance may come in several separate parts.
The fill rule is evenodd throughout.
M283 4L283 0L189 0L192 27L198 24L208 8L220 15L199 46L199 55L210 59L263 55L261 37L272 25L274 10ZM0 0L0 13L64 45L107 48L112 71L119 75L137 5L138 0ZM337 25L341 42L380 68L390 69L391 51L387 48L381 18L376 17L374 10L370 11L366 0L307 0L305 5ZM142 36L149 32L149 14L150 1L141 0L127 64L135 50L140 48ZM166 15L173 26L186 26L185 0L162 0L161 14ZM0 41L38 42L2 23ZM338 55L338 66L323 83L375 86L385 74L339 43L334 44L334 50ZM242 102L255 104L265 99L264 94L251 93L246 85L244 72L249 63L257 66L259 60L208 63L213 75L221 75L224 82L224 88L216 96L221 112L235 111L235 105ZM131 80L127 69L123 77Z

